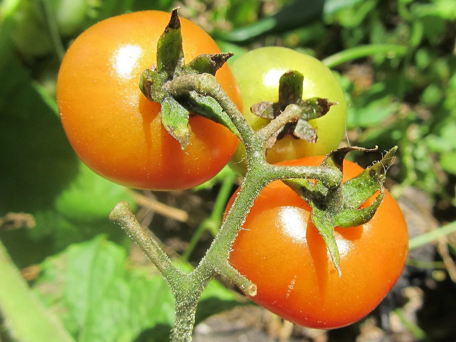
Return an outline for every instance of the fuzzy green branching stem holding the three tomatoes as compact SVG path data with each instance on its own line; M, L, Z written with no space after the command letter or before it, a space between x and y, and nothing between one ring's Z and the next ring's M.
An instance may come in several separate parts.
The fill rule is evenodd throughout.
M342 182L342 172L336 167L278 166L266 162L266 144L269 138L283 125L300 118L302 109L294 104L267 126L255 133L237 106L224 92L217 79L208 73L177 76L164 85L175 98L196 92L211 97L228 115L239 132L239 139L247 152L248 171L233 206L222 223L210 248L192 273L184 274L172 264L167 255L151 239L136 221L126 202L119 203L111 213L111 220L119 223L157 266L176 298L176 322L171 332L171 341L191 341L195 310L202 291L215 274L226 276L247 295L256 295L256 285L234 269L228 258L242 224L245 222L254 200L271 181L288 178L317 179L326 187L337 187ZM197 113L197 111L196 111ZM188 255L186 255L188 256Z

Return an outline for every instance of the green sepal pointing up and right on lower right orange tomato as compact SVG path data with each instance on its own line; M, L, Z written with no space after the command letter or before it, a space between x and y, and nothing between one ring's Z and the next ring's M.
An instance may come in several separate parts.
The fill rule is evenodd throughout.
M383 158L362 171L358 176L342 184L343 207L358 208L378 190L379 180L393 164L397 146L389 150Z

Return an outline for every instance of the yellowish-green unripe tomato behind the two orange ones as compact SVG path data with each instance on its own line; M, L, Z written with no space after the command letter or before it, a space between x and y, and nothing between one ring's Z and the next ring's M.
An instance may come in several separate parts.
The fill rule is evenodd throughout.
M326 155L337 148L345 132L347 104L337 78L319 60L285 47L262 47L238 57L231 69L241 90L244 117L254 130L264 127L269 120L252 114L250 107L263 101L277 102L280 76L289 70L297 70L304 75L302 98L328 98L338 103L321 118L309 120L316 129L316 143L287 135L268 150L269 163ZM245 175L246 154L243 144L239 144L229 165L239 175Z

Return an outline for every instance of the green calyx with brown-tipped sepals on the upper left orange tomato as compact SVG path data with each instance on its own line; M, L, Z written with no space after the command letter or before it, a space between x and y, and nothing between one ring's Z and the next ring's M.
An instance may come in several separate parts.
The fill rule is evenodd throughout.
M166 88L166 83L184 75L208 73L215 75L233 53L202 54L188 64L184 63L182 49L181 22L179 7L171 11L171 19L157 43L157 65L146 69L139 87L144 96L152 102L161 103L161 121L166 130L185 150L189 143L188 120L190 111L228 127L238 135L236 127L213 98L190 92L176 98Z

